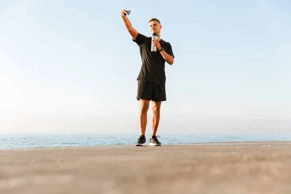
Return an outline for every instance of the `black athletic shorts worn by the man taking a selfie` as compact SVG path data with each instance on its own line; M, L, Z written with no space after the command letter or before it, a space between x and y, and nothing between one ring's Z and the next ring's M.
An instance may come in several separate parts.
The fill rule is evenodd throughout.
M136 99L166 101L166 89L162 85L139 80Z

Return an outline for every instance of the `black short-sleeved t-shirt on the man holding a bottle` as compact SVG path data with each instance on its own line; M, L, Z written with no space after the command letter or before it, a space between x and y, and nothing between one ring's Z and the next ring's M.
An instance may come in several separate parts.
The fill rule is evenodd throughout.
M144 80L165 86L165 60L161 52L151 52L151 37L138 33L136 40L133 40L139 46L142 57L142 67L137 80ZM170 43L160 40L161 47L169 54L173 55Z

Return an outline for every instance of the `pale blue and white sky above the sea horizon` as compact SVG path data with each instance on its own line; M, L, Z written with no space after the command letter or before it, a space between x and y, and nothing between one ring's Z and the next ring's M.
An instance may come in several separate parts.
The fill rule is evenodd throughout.
M1 0L0 132L139 133L123 9L175 54L160 132L291 131L290 0Z

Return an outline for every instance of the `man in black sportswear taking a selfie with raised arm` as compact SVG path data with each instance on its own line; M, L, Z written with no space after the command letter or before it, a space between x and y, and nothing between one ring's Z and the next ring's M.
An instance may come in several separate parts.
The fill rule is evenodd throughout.
M162 101L166 100L165 91L165 62L170 65L174 63L174 54L171 44L161 39L160 33L162 29L161 22L152 18L148 21L149 30L151 34L156 32L159 36L158 40L151 40L151 36L147 37L135 29L132 28L131 23L127 17L126 10L120 12L120 16L123 19L125 28L132 37L140 49L142 58L142 67L138 75L138 90L137 100L140 100L140 137L135 146L146 146L146 123L147 123L147 110L149 108L149 101L152 101L152 132L149 139L150 146L161 146L161 143L157 139L156 133L160 122L160 109ZM151 45L157 47L157 52L151 52Z

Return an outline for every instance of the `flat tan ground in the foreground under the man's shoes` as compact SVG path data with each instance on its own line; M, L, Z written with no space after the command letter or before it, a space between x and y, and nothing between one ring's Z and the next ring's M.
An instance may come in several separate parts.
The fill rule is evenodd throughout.
M0 194L291 194L291 142L5 149Z

